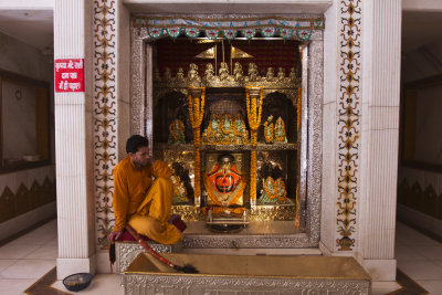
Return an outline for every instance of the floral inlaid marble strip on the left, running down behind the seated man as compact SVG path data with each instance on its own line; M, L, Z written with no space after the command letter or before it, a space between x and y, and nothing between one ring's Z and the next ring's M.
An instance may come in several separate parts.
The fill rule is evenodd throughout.
M94 1L94 178L97 244L108 246L115 222L112 171L117 164L116 1Z

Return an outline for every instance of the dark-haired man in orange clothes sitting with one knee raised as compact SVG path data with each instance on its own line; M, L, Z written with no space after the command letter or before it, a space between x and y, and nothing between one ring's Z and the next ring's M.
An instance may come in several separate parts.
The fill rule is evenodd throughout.
M126 143L127 157L114 169L115 226L107 236L110 243L123 234L128 223L139 234L162 244L175 244L182 233L170 224L173 194L172 171L149 157L148 139L134 135ZM152 176L156 180L152 183Z

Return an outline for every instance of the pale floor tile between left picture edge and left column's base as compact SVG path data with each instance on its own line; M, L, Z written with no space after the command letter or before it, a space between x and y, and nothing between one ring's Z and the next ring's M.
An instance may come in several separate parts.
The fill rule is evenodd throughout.
M55 260L19 260L0 272L2 278L40 278L55 266ZM0 293L1 294L1 293Z

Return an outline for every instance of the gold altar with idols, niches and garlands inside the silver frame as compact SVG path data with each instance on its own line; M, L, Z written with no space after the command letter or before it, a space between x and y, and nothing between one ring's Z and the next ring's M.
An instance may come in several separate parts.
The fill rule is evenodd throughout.
M173 171L172 211L208 224L298 220L299 65L260 69L267 57L254 62L260 52L241 42L225 44L229 63L198 41L187 46L200 53L181 66L160 56L173 46L164 42L152 73L154 156Z

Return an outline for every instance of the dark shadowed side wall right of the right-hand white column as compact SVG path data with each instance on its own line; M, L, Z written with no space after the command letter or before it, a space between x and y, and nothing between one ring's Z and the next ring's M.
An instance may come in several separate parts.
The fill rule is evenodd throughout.
M442 40L403 53L401 77L403 92L410 82L441 74ZM442 239L442 139L439 136L442 129L441 92L441 83L417 92L415 136L414 143L410 144L413 145L412 157L420 164L402 161L398 179L398 219L440 239ZM409 135L408 133L406 136L402 130L403 141L408 140ZM400 144L403 150L406 147L402 140ZM409 145L407 148L410 148Z

